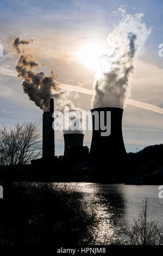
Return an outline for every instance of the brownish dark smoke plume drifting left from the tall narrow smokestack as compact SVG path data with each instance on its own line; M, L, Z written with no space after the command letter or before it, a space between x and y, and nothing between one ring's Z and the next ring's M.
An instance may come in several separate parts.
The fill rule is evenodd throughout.
M52 97L54 90L58 88L57 76L53 71L46 76L43 72L35 72L34 69L39 66L32 54L22 50L22 45L28 45L34 40L23 40L17 37L12 46L17 51L20 58L17 61L16 71L18 78L23 79L22 87L24 93L29 99L34 101L37 107L43 111L49 110L49 99Z

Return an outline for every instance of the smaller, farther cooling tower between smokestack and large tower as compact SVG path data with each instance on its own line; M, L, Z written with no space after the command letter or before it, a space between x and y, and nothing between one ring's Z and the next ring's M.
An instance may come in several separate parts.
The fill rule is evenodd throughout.
M83 146L83 133L66 133L64 134L65 150L64 157L68 157L68 151L71 147Z

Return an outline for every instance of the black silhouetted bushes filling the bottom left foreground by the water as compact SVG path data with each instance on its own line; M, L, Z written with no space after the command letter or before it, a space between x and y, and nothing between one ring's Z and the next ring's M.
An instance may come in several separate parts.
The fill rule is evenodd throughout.
M76 187L27 182L3 186L0 245L75 246L92 241L96 216Z

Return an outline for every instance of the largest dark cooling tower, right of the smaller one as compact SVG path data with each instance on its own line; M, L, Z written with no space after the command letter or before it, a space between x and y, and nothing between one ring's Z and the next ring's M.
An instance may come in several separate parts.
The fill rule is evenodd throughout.
M111 112L111 132L102 136L101 124L106 125L106 113ZM101 171L103 178L122 179L123 169L127 168L127 154L122 136L122 108L102 107L91 109L92 142L89 154L89 165ZM96 127L99 126L99 130ZM109 129L109 127L108 127ZM120 178L120 179L118 179Z

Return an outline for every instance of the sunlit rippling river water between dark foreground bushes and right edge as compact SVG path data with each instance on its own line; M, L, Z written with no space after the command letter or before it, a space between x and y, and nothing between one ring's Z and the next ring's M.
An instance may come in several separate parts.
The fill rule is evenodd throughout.
M137 219L142 200L148 198L149 217L159 221L163 227L163 199L160 199L159 186L95 184L79 182L88 204L95 205L99 219L96 243L124 241L123 228ZM107 240L107 241L106 241Z

